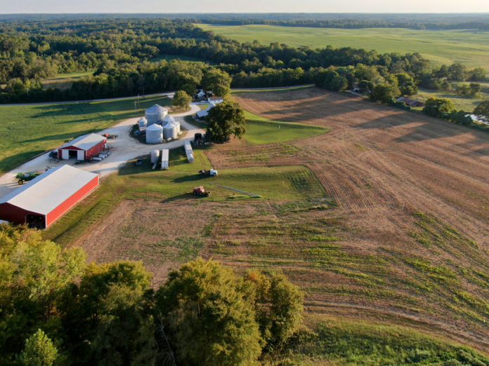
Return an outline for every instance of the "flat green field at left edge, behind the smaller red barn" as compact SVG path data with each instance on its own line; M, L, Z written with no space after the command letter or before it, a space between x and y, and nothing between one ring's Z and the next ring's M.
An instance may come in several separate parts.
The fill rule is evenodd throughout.
M6 172L66 140L141 116L145 108L167 105L167 97L70 104L1 105L0 172Z

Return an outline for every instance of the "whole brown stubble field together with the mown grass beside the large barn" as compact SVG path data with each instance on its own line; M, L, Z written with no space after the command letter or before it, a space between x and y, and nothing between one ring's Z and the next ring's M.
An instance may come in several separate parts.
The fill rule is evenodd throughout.
M434 334L489 352L487 133L318 88L235 97L256 116L330 131L215 145L196 150L193 164L177 150L166 172L129 163L45 237L96 262L141 259L155 284L197 256L279 269L306 292L308 319L352 322L333 322L339 333L365 322L363 334L374 334L382 322L414 332L412 351ZM196 174L211 166L218 177ZM188 194L200 184L211 197ZM351 347L306 348L294 360L358 362ZM387 357L375 352L372 363ZM391 355L412 356L403 352Z

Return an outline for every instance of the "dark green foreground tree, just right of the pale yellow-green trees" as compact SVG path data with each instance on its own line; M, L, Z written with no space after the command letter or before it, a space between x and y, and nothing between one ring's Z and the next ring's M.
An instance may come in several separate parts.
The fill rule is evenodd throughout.
M150 281L141 262L86 267L63 319L76 358L96 365L152 363L155 325L145 294Z

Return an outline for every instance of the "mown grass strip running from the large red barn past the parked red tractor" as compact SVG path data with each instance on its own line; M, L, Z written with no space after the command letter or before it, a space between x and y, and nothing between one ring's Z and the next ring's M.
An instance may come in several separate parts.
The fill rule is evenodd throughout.
M104 179L97 191L44 231L44 237L60 244L70 243L90 225L103 219L123 199L150 199L162 203L188 199L190 204L198 205L206 201L298 198L311 201L326 197L318 179L302 165L226 169L219 170L217 177L208 177L197 173L200 169L211 168L204 150L195 150L194 156L195 162L188 163L183 148L171 150L169 170L152 170L149 158L145 158L141 167L136 167L133 161L129 162L119 170L119 175L110 175ZM258 194L260 197L217 187L211 183ZM193 188L200 185L211 191L211 196L193 196Z

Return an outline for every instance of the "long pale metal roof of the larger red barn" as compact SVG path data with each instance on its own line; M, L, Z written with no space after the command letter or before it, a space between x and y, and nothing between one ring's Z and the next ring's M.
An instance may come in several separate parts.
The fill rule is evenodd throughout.
M10 203L39 215L47 215L94 177L97 175L93 172L61 165L0 198L0 203Z

